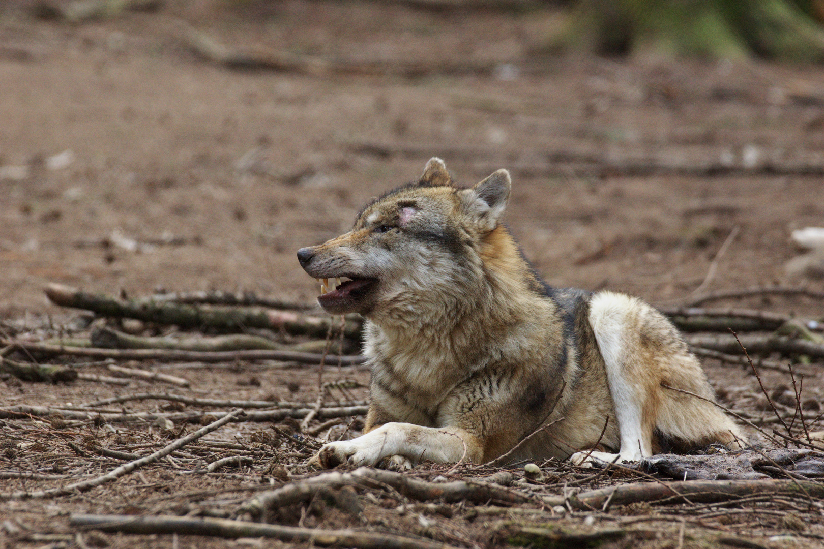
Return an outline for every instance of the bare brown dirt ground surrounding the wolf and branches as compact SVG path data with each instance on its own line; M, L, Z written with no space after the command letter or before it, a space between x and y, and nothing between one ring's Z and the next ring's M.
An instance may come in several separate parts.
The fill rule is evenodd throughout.
M822 67L531 57L559 24L552 7L438 12L402 2L176 0L160 12L69 25L31 16L34 4L0 5L0 316L29 335L76 316L45 300L42 288L49 282L112 295L218 289L313 300L316 283L298 267L296 250L348 230L363 202L417 179L430 156L442 156L465 184L497 168L512 171L506 222L552 285L607 288L653 305L677 305L705 281L737 227L709 289L770 283L824 288L784 271L798 254L790 231L824 224L821 174L588 172L564 160L570 151L619 161L627 151L664 151L676 160L709 154L757 167L775 155L822 151L824 95L795 93L824 90ZM415 78L237 71L194 54L184 40L187 25L226 44L293 54L491 63L494 70ZM735 303L824 316L820 301L804 298ZM725 402L742 409L753 404L751 376L712 362L707 368ZM102 366L97 370L89 371L105 373ZM193 381L175 392L201 398L313 402L317 396L315 375L304 370L242 364L166 370ZM804 390L820 400L820 368L802 371ZM366 372L346 376L368 383ZM0 406L77 404L115 393L84 382L12 381L0 382ZM765 375L768 387L779 383L786 383L780 374ZM116 391L165 392L166 386L133 381ZM366 398L364 389L354 393ZM2 468L11 470L20 459L35 467L40 451L48 455L40 469L58 474L77 463L65 440L91 436L128 449L141 440L160 444L166 436L157 428L124 435L89 425L58 436L46 434L47 426L4 426ZM23 431L15 434L12 427ZM238 424L218 431L215 440L258 444L264 435L255 433L266 429ZM41 447L20 446L38 433ZM19 520L29 533L73 533L68 512L169 512L181 493L217 493L227 482L240 488L216 497L231 506L259 489L261 478L274 478L270 454L241 474L186 477L187 466L166 465L86 495L4 502L0 519ZM119 462L85 463L95 463L85 471L91 474ZM5 479L0 491L35 484ZM374 507L374 523L386 520ZM765 520L729 528L767 547L816 547L810 537L767 540L786 528ZM817 521L808 523L808 533L824 533L821 517ZM464 528L451 543L493 543L476 532L477 523L447 523L442 528ZM2 547L61 543L5 532ZM677 542L677 523L671 534L634 547L708 543L698 534ZM181 537L173 545L169 536L119 535L100 543L239 544Z

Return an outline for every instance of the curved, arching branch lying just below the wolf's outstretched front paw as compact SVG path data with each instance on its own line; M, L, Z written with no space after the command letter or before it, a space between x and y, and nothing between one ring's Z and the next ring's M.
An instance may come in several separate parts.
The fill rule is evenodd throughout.
M513 505L531 500L528 495L485 482L426 482L399 472L362 467L353 472L326 472L301 482L289 483L277 490L258 495L242 505L239 512L249 513L256 520L265 520L271 509L308 501L321 489L341 486L363 486L372 489L390 486L401 495L419 501L443 500L455 503L466 500L475 504L493 501Z

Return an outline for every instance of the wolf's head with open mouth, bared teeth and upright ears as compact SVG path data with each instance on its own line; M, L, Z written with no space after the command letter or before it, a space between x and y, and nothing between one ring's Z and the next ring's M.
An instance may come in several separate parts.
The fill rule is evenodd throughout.
M507 170L498 170L474 187L456 187L433 158L418 183L370 203L352 230L298 250L297 259L312 277L348 279L321 284L318 301L329 313L422 313L433 298L480 290L485 242L498 229L511 242L499 227L510 185Z

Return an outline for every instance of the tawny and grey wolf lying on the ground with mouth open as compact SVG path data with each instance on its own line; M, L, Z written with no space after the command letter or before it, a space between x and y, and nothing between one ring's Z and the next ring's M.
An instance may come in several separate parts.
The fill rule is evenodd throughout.
M588 465L740 445L658 310L541 281L501 221L511 186L498 170L461 188L432 158L352 230L298 250L324 280L321 307L363 315L372 370L364 434L325 444L310 463Z

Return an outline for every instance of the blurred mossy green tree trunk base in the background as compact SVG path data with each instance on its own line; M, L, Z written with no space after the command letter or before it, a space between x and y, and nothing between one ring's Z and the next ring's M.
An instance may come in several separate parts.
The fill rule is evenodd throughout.
M547 49L602 55L824 60L817 0L577 0Z

